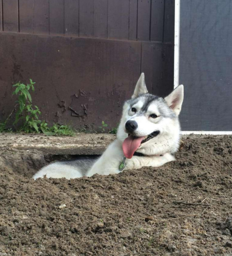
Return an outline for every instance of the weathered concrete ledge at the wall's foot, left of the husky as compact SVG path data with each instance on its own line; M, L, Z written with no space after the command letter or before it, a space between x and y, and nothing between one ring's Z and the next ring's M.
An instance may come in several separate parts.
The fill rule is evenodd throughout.
M0 134L0 149L39 150L52 155L99 155L116 138L111 134L77 133L74 137Z

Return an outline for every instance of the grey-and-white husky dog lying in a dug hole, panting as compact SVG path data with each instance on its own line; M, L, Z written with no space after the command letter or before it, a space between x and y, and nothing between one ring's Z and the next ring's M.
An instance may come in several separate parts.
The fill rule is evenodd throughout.
M33 178L80 178L109 175L143 166L158 167L174 161L179 148L178 116L183 102L183 85L167 97L149 94L141 74L130 100L123 106L117 138L98 159L52 163Z

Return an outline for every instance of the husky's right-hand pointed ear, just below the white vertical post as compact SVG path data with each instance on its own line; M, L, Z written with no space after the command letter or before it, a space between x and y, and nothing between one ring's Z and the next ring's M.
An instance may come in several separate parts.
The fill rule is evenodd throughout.
M167 97L165 97L169 108L178 116L183 102L183 85L179 85Z

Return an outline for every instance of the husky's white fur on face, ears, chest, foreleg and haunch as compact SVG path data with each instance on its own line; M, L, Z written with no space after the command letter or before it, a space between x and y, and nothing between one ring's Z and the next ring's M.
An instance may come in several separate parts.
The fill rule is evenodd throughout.
M135 87L132 99L135 99L144 93L148 93L148 91L145 85L144 74L142 73ZM139 98L140 100L133 107L136 107L138 110L141 109L143 106L143 97L144 96L141 96L141 99ZM183 85L180 85L170 93L170 95L165 98L165 101L176 116L178 116L183 102ZM169 161L175 160L171 153L176 152L179 147L180 124L178 118L163 118L159 116L159 108L156 104L157 103L155 102L150 104L145 115L136 116L135 113L131 111L130 104L125 102L116 140L112 142L103 155L95 161L86 176L120 173L118 168L124 156L122 144L128 136L125 131L125 123L128 120L135 120L138 124L135 136L146 136L156 130L159 130L160 133L157 137L142 143L138 148L137 152L146 156L133 156L131 159L125 159L125 168L123 171L139 169L143 166L159 167ZM166 108L168 108L167 105ZM150 118L150 114L156 114L157 118ZM44 175L46 175L47 178L65 177L67 179L80 178L82 176L79 168L60 163L53 163L43 167L33 176L33 178L43 178Z

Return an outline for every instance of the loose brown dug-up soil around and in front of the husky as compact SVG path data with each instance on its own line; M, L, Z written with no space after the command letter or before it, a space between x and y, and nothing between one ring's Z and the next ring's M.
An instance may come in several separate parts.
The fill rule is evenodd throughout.
M163 167L36 181L25 175L49 157L8 142L0 256L231 256L232 137L183 140L177 161Z

